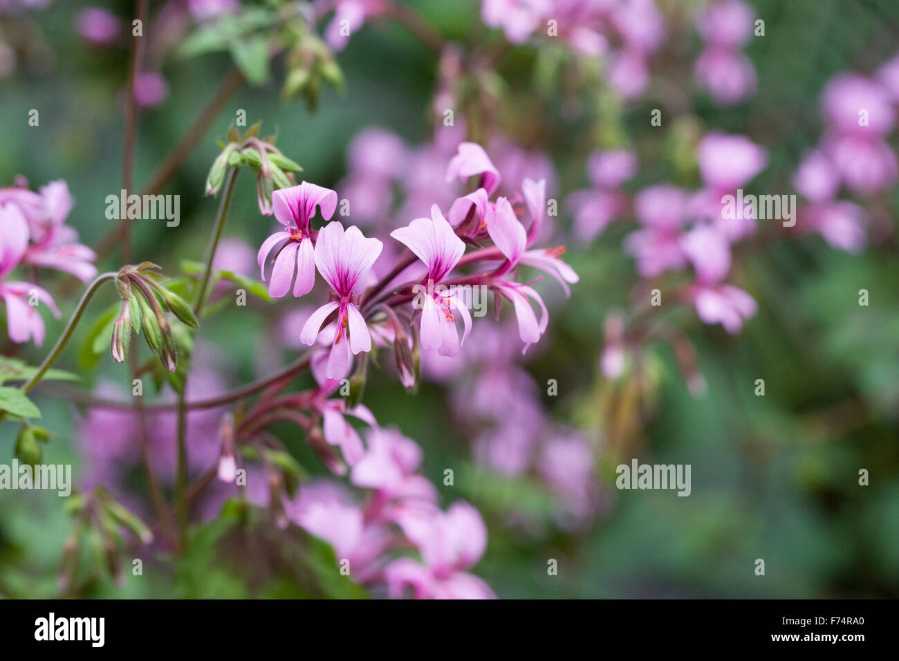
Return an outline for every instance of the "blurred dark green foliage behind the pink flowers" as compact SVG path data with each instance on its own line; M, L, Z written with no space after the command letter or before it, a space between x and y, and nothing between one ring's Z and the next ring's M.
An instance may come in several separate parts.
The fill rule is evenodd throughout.
M97 51L78 40L74 16L86 4L66 0L40 13L47 47L40 70L20 70L0 81L0 182L11 183L15 174L26 175L32 186L65 179L76 197L69 223L91 246L109 229L104 199L120 188L121 89L127 62L120 51ZM122 16L131 11L128 2L90 4L114 8ZM414 4L452 39L485 38L485 28L475 27L475 2ZM671 15L688 13L692 3L661 4ZM799 157L822 129L819 94L824 83L842 70L867 74L895 54L899 4L752 4L765 19L766 36L747 48L759 76L759 92L749 103L719 110L695 92L690 66L698 41L692 35L669 41L664 52L676 57L654 67L668 76L670 88L651 86L641 100L625 107L600 103L594 120L577 113L566 119L571 112L560 108L568 94L565 76L556 71L540 79L540 59L548 55L526 47L512 49L500 60L499 72L508 85L503 128L526 145L551 153L559 173L559 199L583 187L584 161L592 148L622 140L636 143L641 160L640 174L628 187L636 190L663 178L695 183L689 150L681 167L672 165L676 158L665 156L682 150L679 140L697 127L741 132L765 145L770 165L756 185L787 191ZM330 187L345 173L345 150L359 130L387 127L412 144L429 138L437 66L430 50L402 28L377 22L354 35L338 61L346 92L325 89L317 112L300 101L282 103L276 82L236 94L165 189L182 195L181 226L139 222L134 239L138 260L175 272L180 260L200 255L217 205L203 196L203 184L218 154L215 138L224 138L237 109L245 109L248 123L263 121L263 134L277 133L278 147L305 168L303 178ZM138 185L147 182L229 66L224 54L165 63L169 99L140 118ZM277 67L272 78L280 80ZM575 101L593 103L601 95L601 90L587 89ZM665 115L661 129L646 121L660 104L666 112L675 109L671 121ZM40 109L39 128L27 125L31 108ZM250 177L242 174L226 234L258 246L271 222L259 215L252 190ZM890 197L894 218L897 197L895 191ZM569 221L563 214L561 222ZM535 532L513 523L512 509L546 522L552 502L527 478L500 478L476 468L440 387L425 384L410 396L377 371L369 380L366 404L381 424L397 424L422 444L423 474L445 502L465 497L484 514L489 546L476 573L501 597L518 598L899 596L895 236L858 256L838 252L820 238L782 241L746 255L737 277L758 300L760 312L740 335L703 326L689 314L682 317L697 344L708 393L690 396L670 349L653 345L647 359L652 383L635 403L633 393L622 395L627 383L610 384L597 369L603 318L611 309L628 307L636 280L632 261L621 250L624 231L613 226L590 246L567 246L566 258L581 281L571 299L554 300L543 351L534 352L528 364L538 383L558 381L558 397L544 397L552 415L579 426L598 450L605 505L589 530L571 534L547 526ZM105 266L117 267L118 259L114 255ZM869 307L859 307L860 289L870 292ZM75 299L59 302L65 314ZM293 305L282 299L272 308L283 311ZM257 373L261 356L267 364L286 360L271 349L267 326L274 317L274 312L226 309L215 324L202 328L201 336L205 344L218 346L222 370L244 382ZM50 342L62 324L47 321ZM22 353L31 363L42 355L31 345ZM77 371L74 349L59 366ZM129 383L125 371L101 360L83 385L86 389L103 379L120 382L122 388ZM756 379L765 380L765 397L753 395ZM43 424L57 433L45 447L45 460L74 463L77 474L82 460L73 446L74 407L46 395L36 398ZM630 406L631 426L621 437L607 433L610 401ZM0 431L0 461L12 459L12 426ZM304 457L302 440L290 434L296 432L285 430L289 447ZM690 497L671 491L617 491L615 465L635 456L650 463L691 464ZM309 459L309 465L315 460ZM454 487L442 485L446 468L456 471ZM868 469L870 486L859 486L859 469ZM227 535L229 517L239 515L227 514L200 531L191 555L174 571L147 558L147 580L128 575L126 585L118 588L103 579L85 595L354 594L352 585L323 577L329 574L321 567L328 566L330 550L309 540L297 540L295 549L313 558L309 566L320 567L317 573L312 570L314 580L285 569L256 589L258 582L236 574L216 551L217 540ZM0 595L56 594L60 549L69 525L55 495L0 492ZM558 560L558 576L547 576L548 558ZM764 577L753 574L756 558L765 560Z

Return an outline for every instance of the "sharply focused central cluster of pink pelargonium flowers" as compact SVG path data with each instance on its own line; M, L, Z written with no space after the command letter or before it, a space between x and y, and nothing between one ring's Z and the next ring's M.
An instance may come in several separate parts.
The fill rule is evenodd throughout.
M526 230L510 199L497 197L491 200L502 177L484 148L462 142L457 154L449 159L446 180L452 183L469 178L476 179L476 190L453 201L447 216L439 205L433 204L431 218L413 219L407 227L391 232L391 237L405 245L426 269L421 283L427 285L428 293L414 297L414 315L421 317L421 345L423 349L438 349L441 355L458 353L470 332L471 316L458 290L448 292L441 285L467 284L492 290L497 298L512 302L519 334L527 348L546 330L547 309L537 291L529 283L516 281L513 272L521 265L536 267L555 277L566 290L567 283L577 281L574 271L559 259L561 249L531 247L539 237L546 217L546 183L525 179L521 195L515 199L516 203L523 201L528 209L531 222ZM266 239L258 255L263 279L266 261L273 263L269 276L271 296L284 296L291 290L291 285L295 297L307 294L314 287L316 268L331 287L329 301L316 309L299 334L304 344L313 345L326 326L325 341L331 347L326 376L331 380L339 380L348 373L352 355L371 349L369 327L362 314L368 310L360 309L365 305L360 299L359 285L378 260L383 247L378 239L364 237L356 226L344 230L336 220L320 230L311 228L310 221L316 209L328 220L334 215L336 205L336 192L312 183L303 182L274 192L275 218L284 229ZM450 272L458 267L465 255L466 243L481 246L487 241L494 246L482 247L472 262L485 260L500 264L458 281L449 279ZM274 257L270 258L270 255ZM395 277L401 272L395 273ZM389 286L390 281L384 284ZM396 294L402 296L402 289ZM366 303L380 300L372 296ZM531 301L541 311L539 320ZM461 338L457 317L463 325Z

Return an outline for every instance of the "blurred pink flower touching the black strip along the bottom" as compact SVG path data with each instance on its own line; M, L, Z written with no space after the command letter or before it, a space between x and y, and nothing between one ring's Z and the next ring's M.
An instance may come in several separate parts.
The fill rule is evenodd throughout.
M466 572L484 554L487 530L477 510L467 503L445 513L414 513L400 520L406 537L421 551L422 563L394 560L384 570L393 599L411 590L416 599L493 599L486 583Z

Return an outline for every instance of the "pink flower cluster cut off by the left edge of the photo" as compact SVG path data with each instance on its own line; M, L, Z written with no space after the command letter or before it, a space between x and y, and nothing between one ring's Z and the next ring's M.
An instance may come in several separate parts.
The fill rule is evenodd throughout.
M56 269L81 281L96 275L93 250L78 243L75 229L66 225L75 201L65 182L50 182L39 192L25 181L0 189L0 297L6 305L9 337L13 342L43 344L44 322L39 303L59 311L47 290L30 281L9 280L17 266Z

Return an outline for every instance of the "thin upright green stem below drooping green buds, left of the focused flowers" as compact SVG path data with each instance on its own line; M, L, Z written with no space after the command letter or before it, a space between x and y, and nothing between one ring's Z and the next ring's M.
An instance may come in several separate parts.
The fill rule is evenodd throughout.
M197 290L196 297L193 301L193 312L200 317L200 311L206 301L206 290L209 289L209 280L212 278L212 262L216 257L218 250L218 241L222 236L222 229L225 227L225 219L227 212L231 208L231 194L234 192L234 182L237 177L237 168L232 167L228 170L225 180L225 190L222 192L221 200L218 202L218 213L216 214L216 222L212 228L212 238L209 241L209 248L206 251L206 269L203 272L203 278L200 281L200 287ZM178 472L175 478L174 499L175 511L178 518L178 539L180 541L180 549L183 553L187 550L187 520L188 520L188 476L187 476L187 406L185 403L185 393L187 392L187 381L190 377L190 371L185 373L184 383L181 392L178 393Z

